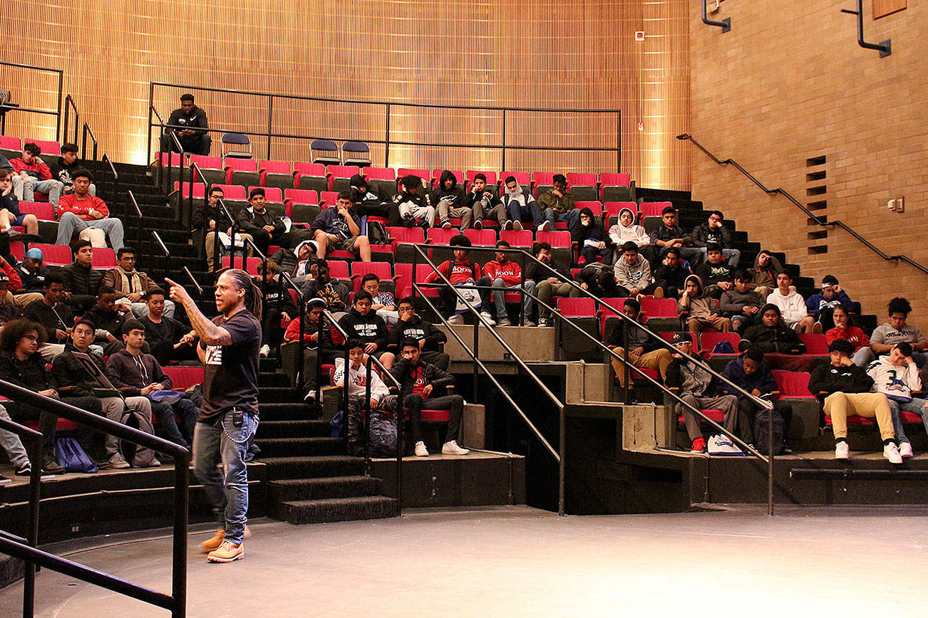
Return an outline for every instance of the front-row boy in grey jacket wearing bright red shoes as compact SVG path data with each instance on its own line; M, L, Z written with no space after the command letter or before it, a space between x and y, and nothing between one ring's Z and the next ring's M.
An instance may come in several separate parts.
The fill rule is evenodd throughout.
M672 343L678 352L690 354L692 339L689 333L675 333ZM722 426L735 433L738 428L738 397L723 395L715 376L692 360L679 353L672 355L673 360L667 367L666 384L680 389L679 397L696 410L722 410ZM700 429L700 419L682 404L675 406L677 414L683 414L683 423L692 440L690 453L702 453L705 450L705 438Z

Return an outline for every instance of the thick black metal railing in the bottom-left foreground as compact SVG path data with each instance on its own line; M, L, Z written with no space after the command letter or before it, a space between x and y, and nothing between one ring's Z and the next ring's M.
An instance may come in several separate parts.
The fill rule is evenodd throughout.
M35 567L43 566L57 573L66 574L81 581L100 586L119 594L138 599L150 605L169 610L174 618L187 613L187 508L189 506L190 452L187 448L162 440L155 435L110 421L105 416L92 414L75 408L63 401L45 397L9 382L0 380L0 395L14 401L22 401L40 410L49 411L59 417L81 423L99 432L113 435L141 447L166 453L174 458L174 529L171 569L171 594L157 592L145 586L128 582L115 575L103 573L79 562L61 558L36 548L38 538L38 512L40 504L41 442L42 434L18 423L0 420L0 427L27 438L30 441L32 475L30 477L29 531L27 538L0 533L0 551L26 562L23 588L23 616L32 616L35 599Z

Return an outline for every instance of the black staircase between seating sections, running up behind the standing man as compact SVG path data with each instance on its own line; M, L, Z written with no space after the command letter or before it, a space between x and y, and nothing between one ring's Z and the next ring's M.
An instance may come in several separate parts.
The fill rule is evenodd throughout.
M196 297L196 290L190 290L192 285L182 271L186 266L203 287L200 309L213 315L213 274L204 270L198 247L176 220L167 196L155 186L151 170L122 163L114 167L118 181L113 179L108 164L88 162L97 195L107 202L114 217L122 219L125 244L135 248L139 267L154 281L171 277ZM141 219L128 196L130 190L142 211ZM170 271L152 230L159 233L171 253ZM267 468L268 514L295 524L395 517L397 500L381 495L380 479L366 475L363 459L346 455L342 438L329 436L329 423L313 420L314 409L303 403L303 394L277 369L277 359L261 360L261 423L255 444L261 448L256 460Z

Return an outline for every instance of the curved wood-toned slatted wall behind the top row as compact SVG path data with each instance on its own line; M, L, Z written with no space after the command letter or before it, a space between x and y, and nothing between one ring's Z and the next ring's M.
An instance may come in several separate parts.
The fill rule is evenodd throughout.
M691 4L691 3L690 3ZM485 107L620 108L611 115L509 113L507 144L613 147L639 184L686 189L690 151L689 24L685 0L477 2L442 0L23 0L6 4L7 61L64 69L103 150L147 160L148 83L285 95ZM634 33L646 34L643 42ZM54 80L0 68L23 105L47 107ZM166 119L187 88L157 88ZM197 93L223 129L268 125L266 97ZM273 132L382 139L385 108L275 99ZM639 125L639 121L641 124ZM51 138L45 117L11 113L7 133ZM639 130L640 126L640 130ZM394 106L393 140L492 145L498 112ZM254 138L260 157L264 138ZM305 160L306 142L277 138L272 158ZM214 147L213 154L217 154ZM383 147L373 147L383 164ZM491 148L393 145L391 166L497 169ZM615 171L613 153L510 150L510 170Z

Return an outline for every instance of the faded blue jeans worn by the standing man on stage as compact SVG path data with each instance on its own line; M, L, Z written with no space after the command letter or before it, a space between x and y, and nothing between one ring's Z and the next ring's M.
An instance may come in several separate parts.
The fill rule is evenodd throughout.
M232 427L232 423L197 423L193 432L193 473L213 503L216 521L224 524L226 540L232 543L241 543L245 535L248 513L245 454L249 438L257 428L258 417L246 414L241 427ZM226 471L225 478L216 468L220 462Z

